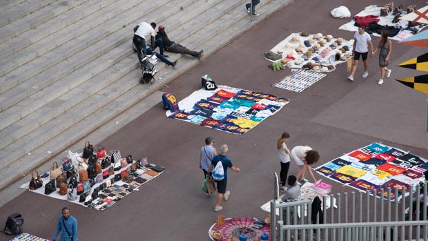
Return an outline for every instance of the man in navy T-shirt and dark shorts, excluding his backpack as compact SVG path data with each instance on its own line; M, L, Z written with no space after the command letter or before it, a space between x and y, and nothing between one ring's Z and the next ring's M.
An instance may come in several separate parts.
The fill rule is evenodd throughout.
M218 162L222 162L223 170L224 170L224 179L221 181L215 181L217 182L217 193L218 193L217 200L215 202L215 208L214 208L215 212L218 212L223 209L223 207L220 206L220 204L222 204L222 199L227 201L229 195L231 195L231 191L226 191L227 169L231 168L232 171L235 171L237 173L240 172L240 168L233 166L232 161L229 159L229 157L226 156L227 152L228 152L228 146L226 144L222 145L220 147L220 154L215 155L213 157L213 162L211 162L211 166L208 168L208 174L207 174L208 177L211 176L211 171L213 171L214 166L217 165Z

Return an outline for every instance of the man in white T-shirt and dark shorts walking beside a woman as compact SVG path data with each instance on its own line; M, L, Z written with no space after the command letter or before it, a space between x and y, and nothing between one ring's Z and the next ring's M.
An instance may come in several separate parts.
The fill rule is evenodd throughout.
M367 78L367 76L369 76L369 72L367 72L367 55L369 54L369 46L370 57L373 55L373 45L371 44L371 37L367 32L364 32L364 26L358 26L358 32L353 35L353 39L353 66L351 75L348 76L348 79L350 79L351 81L353 81L353 74L356 73L360 56L362 57L362 62L364 63L364 73L362 73L362 77Z

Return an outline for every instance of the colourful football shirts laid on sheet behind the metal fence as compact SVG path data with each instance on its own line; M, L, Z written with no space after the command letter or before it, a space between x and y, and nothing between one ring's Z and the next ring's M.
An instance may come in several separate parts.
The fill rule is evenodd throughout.
M405 186L405 195L411 186L424 180L428 160L384 144L373 143L327 162L315 171L335 182L360 191L398 188L398 198ZM393 191L392 191L393 192ZM384 195L387 195L385 191ZM394 193L391 193L391 197Z

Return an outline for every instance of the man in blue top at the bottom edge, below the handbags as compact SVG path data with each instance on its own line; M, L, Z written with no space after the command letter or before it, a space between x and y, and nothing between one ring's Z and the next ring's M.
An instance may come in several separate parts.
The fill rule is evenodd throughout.
M77 241L77 219L70 215L70 209L64 207L58 219L57 230L52 238L55 241L61 232L59 241Z

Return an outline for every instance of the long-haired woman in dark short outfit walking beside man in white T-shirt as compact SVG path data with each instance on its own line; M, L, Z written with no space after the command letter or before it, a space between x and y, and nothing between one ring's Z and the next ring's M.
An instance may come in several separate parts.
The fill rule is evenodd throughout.
M387 73L387 78L391 76L391 69L387 68L389 64L389 57L391 57L392 51L392 41L388 39L388 32L383 30L380 34L380 42L373 53L376 53L379 49L379 66L380 66L380 79L378 84L383 84L383 77L385 77L385 72Z

